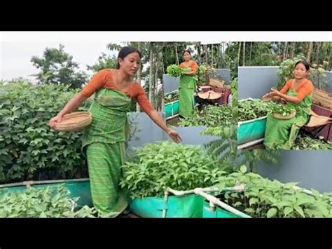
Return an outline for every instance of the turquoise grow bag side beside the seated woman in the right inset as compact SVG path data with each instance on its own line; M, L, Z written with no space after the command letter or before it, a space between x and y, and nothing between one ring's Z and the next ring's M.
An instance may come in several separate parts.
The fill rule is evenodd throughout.
M239 122L237 125L237 144L258 140L265 135L266 118L263 116L258 119Z

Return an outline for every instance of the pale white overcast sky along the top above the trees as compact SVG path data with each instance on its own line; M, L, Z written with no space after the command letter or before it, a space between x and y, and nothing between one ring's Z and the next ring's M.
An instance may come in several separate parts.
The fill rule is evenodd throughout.
M31 79L38 72L32 56L60 43L87 72L86 65L97 62L102 52L110 53L108 43L120 41L332 41L332 32L0 32L0 79Z

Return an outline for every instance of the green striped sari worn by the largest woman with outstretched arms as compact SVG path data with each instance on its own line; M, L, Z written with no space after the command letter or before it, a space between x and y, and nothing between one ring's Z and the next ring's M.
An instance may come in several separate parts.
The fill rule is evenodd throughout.
M119 184L129 134L127 112L131 107L132 99L125 93L98 90L89 110L92 123L83 133L92 201L99 214L107 217L116 217L128 205Z

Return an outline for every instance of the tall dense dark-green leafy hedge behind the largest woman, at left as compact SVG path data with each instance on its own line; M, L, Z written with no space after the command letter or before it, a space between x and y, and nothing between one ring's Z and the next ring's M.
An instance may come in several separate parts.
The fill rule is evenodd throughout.
M0 183L88 176L81 132L48 126L77 91L26 82L0 85Z

